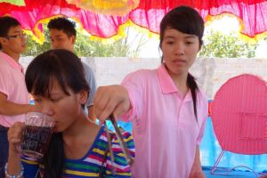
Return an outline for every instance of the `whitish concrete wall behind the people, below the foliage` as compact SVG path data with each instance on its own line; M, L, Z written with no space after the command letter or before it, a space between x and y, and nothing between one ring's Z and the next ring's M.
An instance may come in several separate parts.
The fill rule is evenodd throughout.
M21 57L27 68L32 57ZM82 58L95 72L98 85L119 84L126 74L136 69L155 69L160 59L150 58ZM190 69L209 99L229 78L240 74L255 74L267 81L267 59L200 58Z

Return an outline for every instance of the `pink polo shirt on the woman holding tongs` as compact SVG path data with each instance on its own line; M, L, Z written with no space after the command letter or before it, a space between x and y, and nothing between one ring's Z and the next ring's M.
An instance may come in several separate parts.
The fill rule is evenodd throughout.
M122 119L134 123L133 177L188 178L204 134L206 95L197 93L197 122L191 93L182 99L164 64L135 71L122 85L132 105Z

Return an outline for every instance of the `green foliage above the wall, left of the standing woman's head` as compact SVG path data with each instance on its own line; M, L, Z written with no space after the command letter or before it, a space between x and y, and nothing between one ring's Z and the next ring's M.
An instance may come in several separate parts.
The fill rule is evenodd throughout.
M44 44L36 43L31 36L28 36L28 46L27 51L24 53L24 56L36 56L39 53L47 51L50 49L50 40L49 40L49 31L44 25ZM128 33L128 28L126 33ZM128 37L118 39L112 44L102 44L98 41L91 41L89 36L81 29L77 29L77 41L75 44L75 53L82 57L138 57L140 53L141 46L147 41L144 41L142 34L139 34L134 37L134 40L139 40L137 46L133 50L131 44L134 42L129 42Z

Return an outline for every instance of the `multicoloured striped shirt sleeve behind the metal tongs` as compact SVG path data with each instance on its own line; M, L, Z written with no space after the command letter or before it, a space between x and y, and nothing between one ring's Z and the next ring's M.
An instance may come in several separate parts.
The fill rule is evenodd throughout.
M123 132L122 133L124 142L126 147L128 148L128 152L131 158L134 158L135 154L135 149L134 149L134 140L133 136L128 133L128 132ZM131 172L131 166L127 164L127 161L125 159L125 154L123 153L119 141L117 139L117 136L114 136L112 139L112 151L114 154L114 169L115 169L115 174L112 174L112 162L110 158L110 153L107 155L107 160L106 160L106 175L107 177L117 177L117 178L126 178L126 177L132 177L132 172Z

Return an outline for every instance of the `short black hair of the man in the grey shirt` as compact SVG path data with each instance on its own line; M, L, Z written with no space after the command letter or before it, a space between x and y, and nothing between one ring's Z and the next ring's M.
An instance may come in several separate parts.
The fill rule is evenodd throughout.
M59 17L48 22L47 28L62 30L67 36L76 36L75 23L64 17Z

